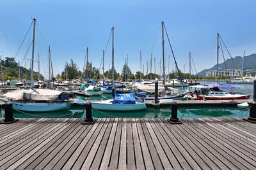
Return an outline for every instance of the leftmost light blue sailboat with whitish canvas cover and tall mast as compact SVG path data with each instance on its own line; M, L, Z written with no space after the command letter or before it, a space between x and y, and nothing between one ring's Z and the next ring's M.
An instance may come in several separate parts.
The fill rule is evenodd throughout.
M69 99L71 93L59 92L49 89L34 89L33 88L33 66L34 66L34 51L35 51L35 26L36 19L33 18L33 42L32 42L32 59L31 59L31 89L15 90L3 94L4 99L13 103L13 109L18 111L31 112L47 112L68 110L72 103Z

